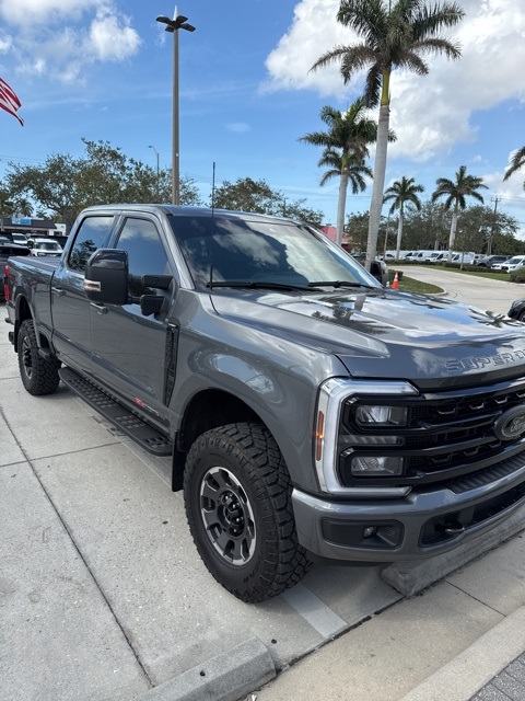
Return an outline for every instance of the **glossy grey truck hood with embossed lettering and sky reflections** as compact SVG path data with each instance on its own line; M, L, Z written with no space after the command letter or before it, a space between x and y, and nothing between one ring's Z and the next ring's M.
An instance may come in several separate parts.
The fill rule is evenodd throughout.
M224 289L212 303L237 323L337 355L355 378L439 389L525 375L525 324L434 297Z

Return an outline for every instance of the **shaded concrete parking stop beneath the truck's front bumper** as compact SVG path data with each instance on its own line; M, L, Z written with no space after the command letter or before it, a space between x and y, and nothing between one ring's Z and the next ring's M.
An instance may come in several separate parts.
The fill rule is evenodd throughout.
M451 552L422 561L397 562L385 567L381 577L404 596L413 596L524 529L525 507L522 507L500 526Z

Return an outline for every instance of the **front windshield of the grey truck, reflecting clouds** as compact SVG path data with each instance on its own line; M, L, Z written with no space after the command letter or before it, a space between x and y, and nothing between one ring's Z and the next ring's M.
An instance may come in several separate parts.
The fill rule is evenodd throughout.
M210 287L210 281L289 286L337 281L380 287L342 249L303 225L220 215L173 217L171 221L200 289Z

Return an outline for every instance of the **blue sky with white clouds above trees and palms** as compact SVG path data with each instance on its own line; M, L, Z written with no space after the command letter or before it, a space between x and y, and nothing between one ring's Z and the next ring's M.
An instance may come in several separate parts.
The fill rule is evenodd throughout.
M395 71L385 187L402 176L424 186L455 180L460 165L483 179L485 203L514 216L525 238L525 169L503 183L525 146L525 2L458 0L465 19L447 38L462 58L430 57L430 72ZM324 130L324 105L340 111L362 94L337 65L317 58L357 38L338 24L338 0L0 0L0 78L16 92L25 126L0 112L0 177L9 162L38 164L84 152L82 138L128 157L171 165L173 36L155 21L178 11L180 173L208 202L215 180L264 179L335 225L338 182L319 186L322 150L299 138ZM372 112L376 117L377 113ZM153 148L151 148L153 147ZM372 158L369 163L373 166ZM366 211L372 183L349 194ZM495 202L498 199L498 202ZM477 204L471 200L471 204ZM386 214L388 205L385 205Z

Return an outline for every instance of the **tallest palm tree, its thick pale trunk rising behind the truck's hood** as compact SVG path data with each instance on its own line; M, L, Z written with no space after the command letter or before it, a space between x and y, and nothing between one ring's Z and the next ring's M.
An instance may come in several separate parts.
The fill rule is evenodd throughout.
M316 70L340 62L345 83L369 68L364 97L369 107L380 104L374 184L370 203L366 267L370 269L377 250L377 233L383 207L386 153L390 113L390 74L395 68L407 68L419 76L429 72L421 58L428 54L445 54L459 58L457 44L440 36L442 27L456 25L465 12L455 2L427 7L424 0L341 0L337 20L362 39L351 46L336 46L312 67Z

